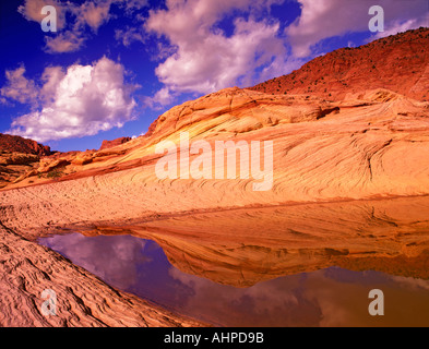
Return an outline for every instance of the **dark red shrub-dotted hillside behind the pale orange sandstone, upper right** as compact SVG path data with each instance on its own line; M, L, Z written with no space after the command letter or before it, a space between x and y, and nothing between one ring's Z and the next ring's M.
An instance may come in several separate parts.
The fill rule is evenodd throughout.
M251 89L269 94L310 94L337 100L348 93L386 88L429 100L429 28L408 31L357 48L318 57L291 74Z

